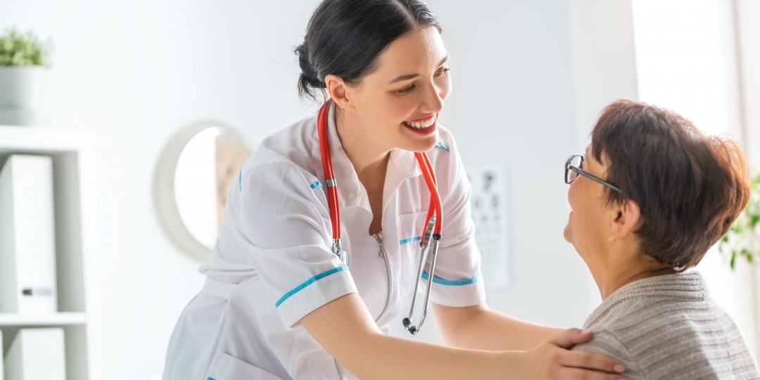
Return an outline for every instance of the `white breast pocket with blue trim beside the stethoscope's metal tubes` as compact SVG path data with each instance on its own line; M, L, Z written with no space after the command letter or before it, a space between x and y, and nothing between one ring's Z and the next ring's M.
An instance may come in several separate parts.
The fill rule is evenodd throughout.
M401 294L411 294L420 269L420 242L427 211L399 215L398 236L400 255L397 273L401 279Z

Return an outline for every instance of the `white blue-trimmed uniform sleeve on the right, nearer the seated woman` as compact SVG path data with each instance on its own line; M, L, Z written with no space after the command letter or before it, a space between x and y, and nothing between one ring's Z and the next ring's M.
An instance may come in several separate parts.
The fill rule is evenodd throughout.
M451 134L435 148L435 173L441 192L443 229L431 299L442 306L475 306L486 300L480 251L470 214L470 182Z

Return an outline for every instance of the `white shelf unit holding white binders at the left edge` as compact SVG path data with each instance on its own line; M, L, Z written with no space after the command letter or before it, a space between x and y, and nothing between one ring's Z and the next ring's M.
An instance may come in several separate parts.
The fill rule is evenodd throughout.
M3 352L21 328L60 327L65 334L66 378L99 378L97 328L93 325L91 278L96 226L93 195L93 141L71 129L0 125L0 167L11 154L52 157L58 311L52 315L0 313ZM2 205L0 205L2 212ZM0 252L2 255L2 252ZM89 292L89 293L88 293Z

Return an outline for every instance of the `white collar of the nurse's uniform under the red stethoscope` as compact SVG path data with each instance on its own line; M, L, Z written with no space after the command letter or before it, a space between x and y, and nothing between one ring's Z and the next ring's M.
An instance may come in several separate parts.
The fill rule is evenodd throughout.
M337 181L340 207L361 206L370 210L367 192L362 183L359 182L359 176L348 159L343 145L340 144L337 128L335 128L335 107L335 103L332 103L328 113L328 148L332 159L333 173ZM325 173L322 170L318 138L315 118L312 157L314 157L315 172L324 185ZM391 150L391 157L388 159L388 169L386 169L385 174L385 187L383 188L383 208L385 208L385 204L391 195L401 185L401 182L420 175L422 175L422 170L417 165L413 152L401 149Z

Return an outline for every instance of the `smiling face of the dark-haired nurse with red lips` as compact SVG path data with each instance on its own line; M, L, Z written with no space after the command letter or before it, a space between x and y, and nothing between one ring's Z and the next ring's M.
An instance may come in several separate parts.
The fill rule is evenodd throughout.
M347 88L353 103L350 133L375 149L426 151L438 142L437 120L451 91L448 54L435 27L394 40L375 71Z

